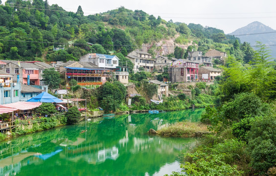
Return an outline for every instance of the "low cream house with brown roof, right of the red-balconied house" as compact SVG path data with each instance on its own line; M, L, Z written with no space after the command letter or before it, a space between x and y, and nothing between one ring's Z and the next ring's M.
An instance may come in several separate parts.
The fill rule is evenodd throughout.
M221 70L210 66L202 66L198 69L198 77L201 81L212 81L216 76L221 76Z

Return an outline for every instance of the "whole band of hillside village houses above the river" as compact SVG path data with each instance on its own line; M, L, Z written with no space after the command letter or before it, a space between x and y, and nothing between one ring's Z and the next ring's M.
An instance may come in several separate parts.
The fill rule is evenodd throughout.
M214 59L224 62L227 54L217 50L210 50L205 56L202 51L191 51L186 59L168 57L152 58L151 54L141 51L133 51L127 55L133 63L134 73L139 70L147 72L162 73L164 68L169 70L169 79L163 79L162 85L166 83L187 83L187 82L210 82L216 76L221 75L221 70L213 68ZM52 62L22 62L12 60L0 60L1 74L1 100L0 104L15 103L35 97L42 91L48 91L47 85L43 82L43 71L53 67L66 80L69 86L70 80L74 79L78 85L102 85L106 81L115 78L125 86L129 85L129 67L119 66L120 60L115 55L104 55L90 53L82 56L79 61ZM161 84L155 81L153 84ZM21 85L21 86L20 86ZM26 91L28 89L28 91ZM163 90L164 89L164 90ZM163 91L167 93L163 93ZM160 88L158 96L168 96L168 87Z

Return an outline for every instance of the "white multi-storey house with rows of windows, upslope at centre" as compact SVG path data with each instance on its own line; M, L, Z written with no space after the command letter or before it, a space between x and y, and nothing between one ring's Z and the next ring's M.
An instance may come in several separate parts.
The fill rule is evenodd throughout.
M139 67L144 67L145 71L152 71L156 61L151 54L142 51L132 51L127 55L127 58L134 64L134 72L137 72Z

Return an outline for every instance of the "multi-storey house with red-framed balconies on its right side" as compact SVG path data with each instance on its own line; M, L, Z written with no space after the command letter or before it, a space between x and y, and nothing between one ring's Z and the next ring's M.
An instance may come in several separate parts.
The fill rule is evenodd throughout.
M169 67L169 77L172 83L198 81L199 63L179 59Z

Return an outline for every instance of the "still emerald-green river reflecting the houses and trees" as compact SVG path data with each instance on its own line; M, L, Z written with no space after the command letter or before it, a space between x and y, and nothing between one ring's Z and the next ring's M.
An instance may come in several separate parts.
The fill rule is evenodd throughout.
M203 109L95 118L0 143L0 176L163 176L180 171L178 155L195 138L148 135Z

